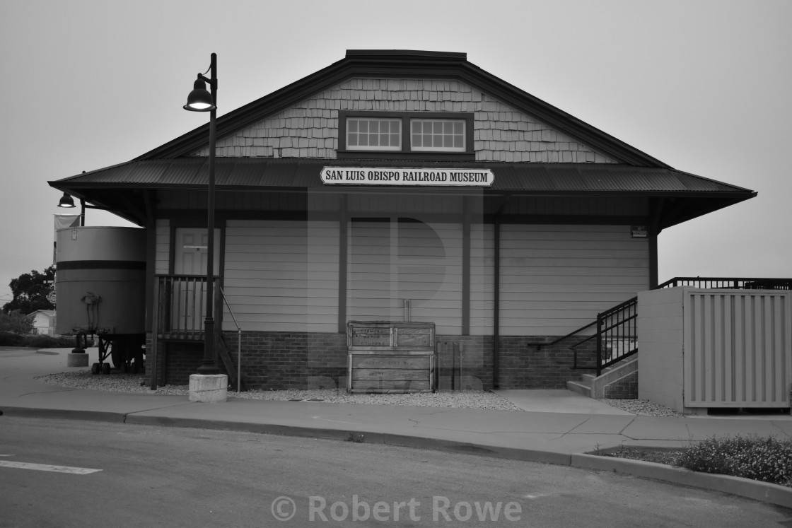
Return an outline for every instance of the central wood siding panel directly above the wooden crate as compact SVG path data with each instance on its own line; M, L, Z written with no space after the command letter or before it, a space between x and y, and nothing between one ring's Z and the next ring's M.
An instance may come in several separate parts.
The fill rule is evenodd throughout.
M350 222L347 316L350 321L433 322L462 328L462 227L424 222Z

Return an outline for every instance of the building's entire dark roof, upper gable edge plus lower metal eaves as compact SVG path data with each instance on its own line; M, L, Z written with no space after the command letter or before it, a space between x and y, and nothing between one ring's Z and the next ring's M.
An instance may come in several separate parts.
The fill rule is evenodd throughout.
M756 196L756 192L698 177L652 158L588 123L562 112L467 61L464 53L349 50L344 59L217 119L222 139L265 120L349 78L433 78L464 82L539 120L619 163L527 163L498 161L373 161L330 158L216 158L218 191L280 189L304 192L322 187L323 166L437 167L491 169L490 196L649 196L670 198L658 219L672 226ZM222 100L221 100L222 104ZM156 188L199 188L207 184L206 158L193 156L208 143L208 124L134 160L49 182L87 202L143 225L151 219ZM425 192L432 192L431 189ZM459 190L459 192L465 192ZM670 211L669 211L670 209Z

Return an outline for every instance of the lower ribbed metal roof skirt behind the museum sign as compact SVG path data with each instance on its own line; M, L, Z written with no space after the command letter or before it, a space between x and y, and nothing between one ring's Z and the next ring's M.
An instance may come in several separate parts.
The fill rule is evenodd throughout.
M496 192L735 193L752 191L675 169L611 164L497 163L484 161L337 160L316 158L216 158L222 188L322 188L323 167L490 169ZM93 187L199 187L208 183L208 158L128 161L50 182L61 190ZM365 186L362 186L365 187ZM381 186L379 187L381 188Z

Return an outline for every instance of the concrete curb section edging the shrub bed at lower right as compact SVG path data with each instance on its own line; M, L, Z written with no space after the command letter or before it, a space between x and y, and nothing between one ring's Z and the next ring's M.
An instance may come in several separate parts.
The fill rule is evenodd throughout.
M792 508L792 488L779 484L769 484L729 475L699 473L672 465L658 464L657 462L603 457L596 454L572 454L571 465L582 469L626 473L656 481L705 488L714 492L729 493L752 500L759 500L763 503Z

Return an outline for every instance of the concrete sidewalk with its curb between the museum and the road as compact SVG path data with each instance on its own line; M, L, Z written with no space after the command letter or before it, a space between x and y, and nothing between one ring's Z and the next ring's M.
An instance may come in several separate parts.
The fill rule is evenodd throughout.
M704 487L792 507L792 488L753 481L742 484L745 479L699 475L649 462L587 454L619 446L680 447L713 436L737 434L788 438L792 437L789 415L750 419L634 416L565 390L499 391L526 409L524 412L241 398L201 404L188 401L186 396L67 389L36 381L37 376L44 374L86 369L67 367L67 352L0 349L0 411L6 416L204 427L325 439L347 439L352 433L363 435L367 443L592 469L616 470L618 466L625 473L640 470L644 473L636 474L669 481L681 479L680 483L688 485L702 485L696 484L696 479L712 477L725 481L727 488L718 488L721 484L717 483ZM96 360L92 357L90 361ZM751 488L748 494L743 489L746 487Z

